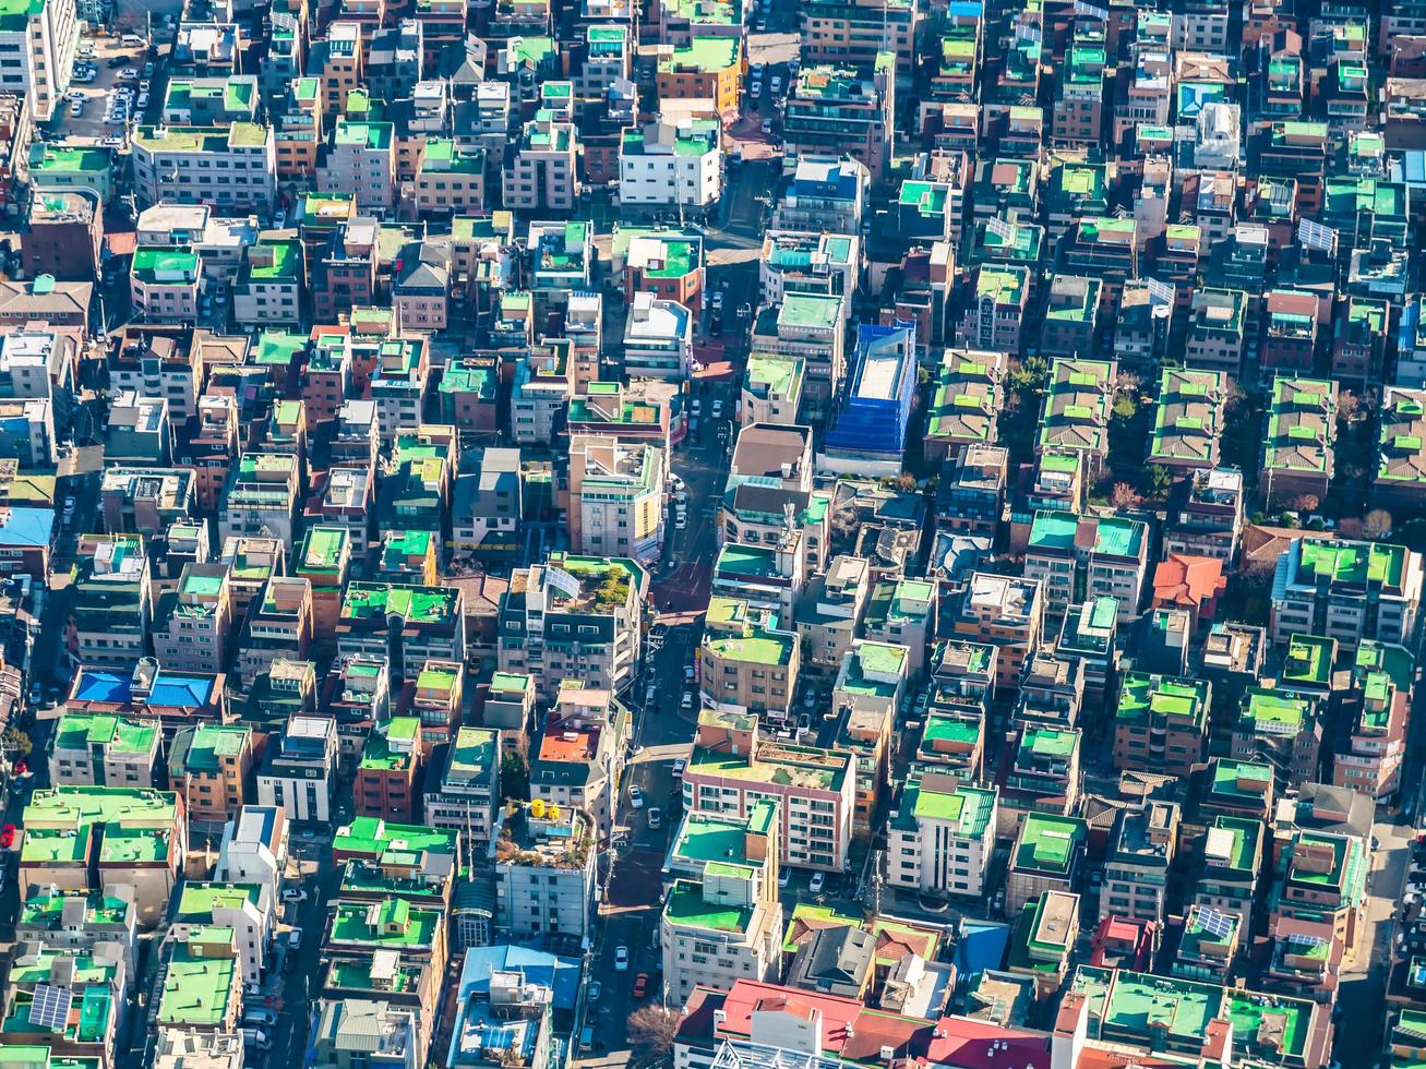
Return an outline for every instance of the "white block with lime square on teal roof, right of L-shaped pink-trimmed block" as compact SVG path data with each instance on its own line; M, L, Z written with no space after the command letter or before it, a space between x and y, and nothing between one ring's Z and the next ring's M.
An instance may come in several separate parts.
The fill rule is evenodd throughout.
M928 725L930 730L930 725ZM984 898L995 847L994 790L917 765L887 824L886 881L930 895Z

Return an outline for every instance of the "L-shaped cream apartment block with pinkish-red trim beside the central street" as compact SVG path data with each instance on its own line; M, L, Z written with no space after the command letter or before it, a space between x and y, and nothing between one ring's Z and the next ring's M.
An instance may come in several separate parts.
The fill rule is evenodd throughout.
M704 710L683 773L686 812L747 817L776 800L779 864L840 872L854 811L851 754L759 737L756 717Z

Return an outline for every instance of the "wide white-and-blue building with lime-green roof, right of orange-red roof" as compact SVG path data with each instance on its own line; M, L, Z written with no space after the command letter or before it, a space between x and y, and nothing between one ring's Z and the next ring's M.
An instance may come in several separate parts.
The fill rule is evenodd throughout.
M1355 650L1363 640L1410 644L1420 609L1420 556L1405 546L1296 539L1273 573L1269 631L1335 639Z

